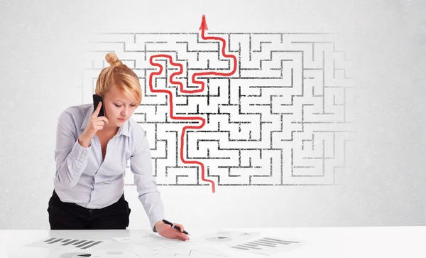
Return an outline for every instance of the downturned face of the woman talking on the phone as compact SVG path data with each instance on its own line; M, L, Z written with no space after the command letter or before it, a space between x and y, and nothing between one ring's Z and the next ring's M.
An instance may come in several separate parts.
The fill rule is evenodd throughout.
M136 102L119 90L115 85L104 96L105 113L109 124L104 128L121 127L135 112Z

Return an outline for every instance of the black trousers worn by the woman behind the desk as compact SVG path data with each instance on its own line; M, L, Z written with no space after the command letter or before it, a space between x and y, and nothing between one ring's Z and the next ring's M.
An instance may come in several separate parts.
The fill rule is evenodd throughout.
M131 209L121 198L102 209L87 209L75 203L63 203L53 190L48 213L50 230L126 230Z

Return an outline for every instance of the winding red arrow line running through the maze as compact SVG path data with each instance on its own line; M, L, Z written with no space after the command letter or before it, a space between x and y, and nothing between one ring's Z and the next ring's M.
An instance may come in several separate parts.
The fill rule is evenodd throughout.
M215 192L214 181L211 181L209 179L204 178L204 175L205 175L204 164L201 163L200 161L187 161L187 160L185 160L185 158L183 156L183 144L185 142L184 141L185 131L187 129L202 129L202 127L204 127L204 125L206 124L206 120L203 117L175 117L175 115L173 114L173 95L172 95L172 92L170 90L154 90L153 89L153 76L154 75L160 75L161 72L163 72L163 65L160 65L159 63L154 63L154 61L153 61L154 58L168 58L169 63L171 65L175 65L175 66L179 67L178 72L173 72L173 74L170 75L169 81L170 81L171 84L175 84L175 85L178 84L180 86L180 92L182 92L182 93L197 93L197 92L203 92L204 91L204 82L195 80L195 77L197 77L197 76L203 76L203 75L230 76L230 75L233 75L236 72L236 57L235 57L235 55L226 55L226 53L225 53L226 41L224 40L224 38L205 37L204 36L204 31L205 31L205 29L207 29L207 23L205 22L205 16L204 15L202 17L202 25L200 26L200 29L202 30L202 34L201 34L202 39L222 41L222 55L224 55L224 57L226 57L226 58L232 58L234 60L234 69L231 72L228 72L228 73L224 73L224 72L197 72L197 73L194 73L192 75L192 83L200 84L201 85L200 89L184 90L182 82L178 82L178 81L173 80L174 76L182 74L182 71L183 71L182 64L174 63L171 55L152 55L151 58L149 58L149 63L151 63L151 65L153 65L153 66L157 66L158 68L160 68L160 70L158 72L151 72L151 75L149 75L149 88L150 88L151 92L166 93L166 94L169 95L170 118L177 119L177 120L199 120L201 122L201 124L199 124L197 126L185 126L185 127L183 127L182 134L180 135L180 160L185 164L200 165L201 166L201 179L202 179L202 181L212 183L212 192L214 193Z

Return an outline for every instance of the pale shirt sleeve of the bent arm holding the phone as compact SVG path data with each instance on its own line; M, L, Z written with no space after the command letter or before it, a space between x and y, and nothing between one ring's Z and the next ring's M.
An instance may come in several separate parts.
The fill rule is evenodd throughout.
M87 153L91 148L79 144L72 116L62 112L58 118L55 146L55 177L60 183L69 187L77 184L87 166Z

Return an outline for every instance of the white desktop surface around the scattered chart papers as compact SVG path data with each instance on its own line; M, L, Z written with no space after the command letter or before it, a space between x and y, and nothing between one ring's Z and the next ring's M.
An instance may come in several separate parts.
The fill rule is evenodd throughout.
M187 230L194 239L208 231ZM290 237L304 242L300 247L270 257L426 257L426 227L293 227L229 230L260 231L261 237L281 239ZM147 230L0 230L0 257L52 257L52 249L23 247L25 244L48 237L111 240L112 237L138 237L147 232ZM111 249L130 250L131 245L117 243L119 247ZM233 250L226 252L230 257L266 257ZM112 255L114 251L109 254L105 257L114 257ZM133 257L133 254L129 257Z

